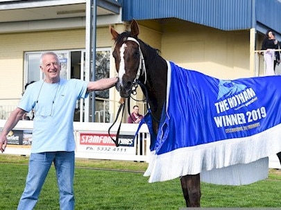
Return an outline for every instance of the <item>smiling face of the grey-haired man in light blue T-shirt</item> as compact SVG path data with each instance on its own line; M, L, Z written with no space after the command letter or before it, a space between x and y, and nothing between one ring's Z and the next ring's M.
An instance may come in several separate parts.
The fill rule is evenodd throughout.
M40 69L45 74L47 80L60 78L60 62L54 55L44 55Z

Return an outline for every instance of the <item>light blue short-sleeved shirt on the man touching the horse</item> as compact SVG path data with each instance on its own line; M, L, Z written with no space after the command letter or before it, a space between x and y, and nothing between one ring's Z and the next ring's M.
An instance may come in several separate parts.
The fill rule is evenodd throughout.
M60 78L59 83L43 80L28 85L18 107L34 110L31 152L74 151L74 110L79 98L87 98L83 80Z

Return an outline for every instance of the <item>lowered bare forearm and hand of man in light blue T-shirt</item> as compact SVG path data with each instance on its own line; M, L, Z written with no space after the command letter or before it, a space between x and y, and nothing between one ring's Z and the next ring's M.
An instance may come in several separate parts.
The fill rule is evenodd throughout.
M8 117L0 135L0 151L2 153L5 151L8 143L8 139L7 139L8 133L10 132L10 130L12 130L12 128L15 127L15 125L17 125L19 120L22 119L22 116L24 115L25 112L26 111L20 108L16 108L14 111L12 111L12 113Z

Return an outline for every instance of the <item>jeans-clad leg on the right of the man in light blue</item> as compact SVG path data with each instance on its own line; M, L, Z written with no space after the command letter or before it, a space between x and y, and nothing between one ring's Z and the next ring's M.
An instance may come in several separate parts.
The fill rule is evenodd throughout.
M54 164L60 190L60 209L74 209L74 152L56 152Z

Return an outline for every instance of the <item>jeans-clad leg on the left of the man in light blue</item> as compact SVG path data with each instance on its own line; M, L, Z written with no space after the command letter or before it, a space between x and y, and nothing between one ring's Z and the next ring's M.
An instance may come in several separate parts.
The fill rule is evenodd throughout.
M35 207L40 191L53 161L53 153L31 153L29 158L26 187L19 200L17 210L29 210Z

